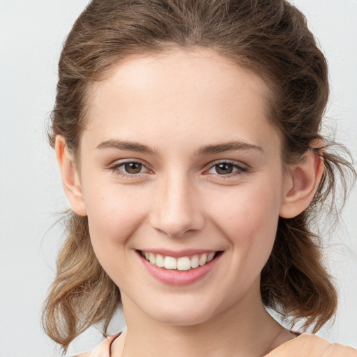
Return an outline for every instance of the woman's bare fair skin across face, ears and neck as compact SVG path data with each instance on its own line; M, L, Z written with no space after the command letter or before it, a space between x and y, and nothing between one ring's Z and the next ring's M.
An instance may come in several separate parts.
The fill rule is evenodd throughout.
M257 75L212 50L132 56L91 88L78 165L57 138L70 205L88 215L96 256L121 290L128 331L112 356L263 356L294 337L266 312L260 272L279 216L308 206L322 164L310 152L284 174L268 96ZM137 250L155 248L222 255L176 287L140 264Z

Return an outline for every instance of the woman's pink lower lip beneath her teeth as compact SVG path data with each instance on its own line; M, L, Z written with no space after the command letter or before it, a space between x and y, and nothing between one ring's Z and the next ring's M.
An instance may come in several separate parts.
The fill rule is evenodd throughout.
M190 285L194 282L201 280L210 271L212 271L212 269L215 267L215 265L218 263L218 260L222 256L222 254L218 255L209 263L204 264L204 266L192 268L189 271L177 271L159 268L158 266L155 266L155 264L151 264L149 261L147 261L141 255L141 253L137 252L137 255L139 256L140 261L142 261L144 267L146 268L146 271L148 271L149 274L153 276L153 278L159 280L160 282L163 282L164 284L176 286Z

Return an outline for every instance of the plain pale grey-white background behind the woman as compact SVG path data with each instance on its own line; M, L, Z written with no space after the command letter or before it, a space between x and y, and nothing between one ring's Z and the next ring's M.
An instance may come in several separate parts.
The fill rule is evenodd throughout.
M51 227L67 202L45 123L61 44L86 2L0 0L0 357L55 356L39 321L61 237L61 227ZM357 0L294 2L328 58L329 121L357 158ZM335 325L320 334L357 348L356 190L342 218L326 238L340 308ZM100 338L94 335L87 348Z

